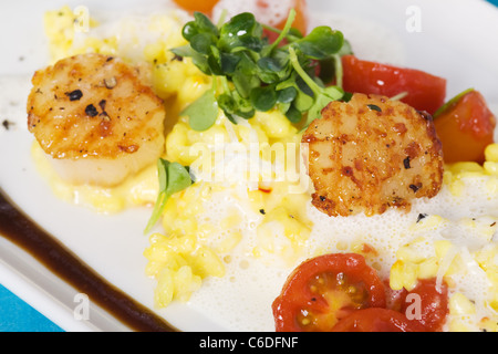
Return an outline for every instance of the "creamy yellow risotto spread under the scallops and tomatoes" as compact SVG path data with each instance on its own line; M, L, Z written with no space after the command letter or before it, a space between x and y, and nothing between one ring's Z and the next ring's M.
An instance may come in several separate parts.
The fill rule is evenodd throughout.
M188 19L185 12L123 17L112 23L92 18L86 32L75 29L76 18L69 7L46 12L51 60L97 52L131 63L145 62L153 88L167 107L164 158L190 166L196 180L169 198L160 226L148 236L149 247L144 250L146 275L157 281L154 299L158 308L190 301L210 279L236 282L237 272L251 262L288 274L308 257L349 251L363 254L394 290L411 290L417 279L444 280L449 287L445 330L497 330L498 144L487 147L483 165L445 166L440 194L434 200L416 201L408 214L390 210L371 218L329 218L311 206L305 168L289 164L289 157L299 152L288 147L299 145L301 134L279 111L257 113L239 124L220 112L205 132L191 129L179 115L211 86L210 77L189 59L178 60L169 52L186 44L181 37ZM216 160L217 146L232 147L230 154L225 150L221 162ZM261 168L248 178L243 170L237 174L237 168L247 166L242 157L253 146ZM156 200L155 165L114 188L72 186L51 169L37 144L32 153L55 195L70 202L111 214ZM224 176L214 175L220 170ZM281 285L273 284L274 289Z

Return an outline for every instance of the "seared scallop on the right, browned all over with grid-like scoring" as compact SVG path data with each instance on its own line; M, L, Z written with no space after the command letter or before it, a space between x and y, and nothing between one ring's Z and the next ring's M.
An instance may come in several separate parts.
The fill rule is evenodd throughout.
M331 102L302 137L312 204L329 216L367 216L436 196L443 152L430 115L387 97Z

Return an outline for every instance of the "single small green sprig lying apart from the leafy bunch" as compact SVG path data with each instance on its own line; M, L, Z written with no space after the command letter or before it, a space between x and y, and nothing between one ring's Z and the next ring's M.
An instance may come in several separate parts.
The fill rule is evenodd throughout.
M157 160L157 173L159 178L159 194L157 195L153 214L145 227L144 233L148 233L157 220L159 220L169 197L193 184L188 167L184 167L178 163L170 163L159 158Z

